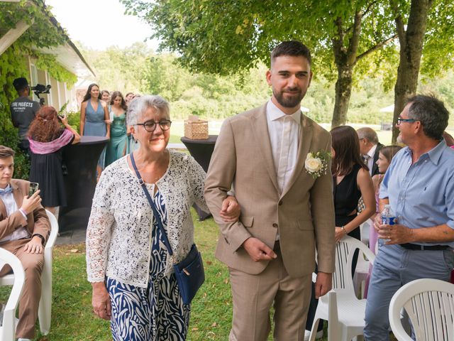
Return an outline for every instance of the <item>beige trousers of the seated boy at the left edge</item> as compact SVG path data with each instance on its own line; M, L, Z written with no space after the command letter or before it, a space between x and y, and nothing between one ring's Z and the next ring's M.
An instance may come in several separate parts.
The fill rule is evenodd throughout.
M26 273L21 301L19 301L19 322L16 328L16 337L33 339L35 337L35 323L38 318L38 305L41 297L41 272L43 271L44 254L28 254L23 251L25 244L31 239L19 239L1 244L0 247L15 254L21 261ZM0 270L0 276L11 271L9 266Z

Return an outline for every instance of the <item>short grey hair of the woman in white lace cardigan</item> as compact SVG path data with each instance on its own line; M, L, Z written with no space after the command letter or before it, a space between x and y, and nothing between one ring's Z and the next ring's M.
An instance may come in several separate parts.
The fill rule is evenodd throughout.
M169 102L160 96L145 94L145 96L135 97L128 105L128 126L134 126L139 122L140 117L147 109L155 109L158 113L164 114L167 119L170 119Z

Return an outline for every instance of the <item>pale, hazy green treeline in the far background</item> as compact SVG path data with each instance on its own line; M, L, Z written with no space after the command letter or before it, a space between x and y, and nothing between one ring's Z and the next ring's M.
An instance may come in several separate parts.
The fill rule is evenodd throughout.
M126 53L129 53L128 57L123 58ZM386 50L380 50L379 53L386 53ZM189 72L187 67L179 63L177 56L154 53L144 44L104 51L86 50L84 55L96 68L101 88L120 90L123 94L128 91L160 94L170 101L172 119L186 119L190 114L206 119L225 119L265 103L271 94L265 80L267 66L264 63L258 63L240 75L214 75ZM143 58L138 59L138 55ZM393 102L393 94L389 90L394 85L396 74L390 70L399 61L396 50L392 58L394 60L382 63L376 63L375 58L360 60L357 67L364 70L367 77L354 82L355 91L350 101L347 123L392 122L391 112L380 112L381 108ZM104 75L100 70L111 73ZM134 79L131 74L135 75ZM113 77L112 80L109 77ZM448 107L454 107L454 86L450 87L453 83L450 77L453 77L452 73L443 78L424 77L421 90L442 94ZM123 84L128 84L128 87L123 87ZM311 83L302 102L304 107L310 109L308 116L319 123L331 121L334 104L333 82L323 76Z

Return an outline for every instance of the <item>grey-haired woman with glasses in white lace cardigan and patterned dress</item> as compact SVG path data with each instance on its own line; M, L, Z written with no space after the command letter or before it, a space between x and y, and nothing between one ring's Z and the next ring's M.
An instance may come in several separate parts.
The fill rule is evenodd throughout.
M169 104L159 96L135 99L128 114L140 148L102 173L87 227L87 274L96 315L111 321L114 340L185 340L190 305L185 305L172 268L194 244L190 207L208 210L205 173L194 158L167 149ZM173 256L170 257L133 163L150 194ZM228 197L226 221L240 215Z

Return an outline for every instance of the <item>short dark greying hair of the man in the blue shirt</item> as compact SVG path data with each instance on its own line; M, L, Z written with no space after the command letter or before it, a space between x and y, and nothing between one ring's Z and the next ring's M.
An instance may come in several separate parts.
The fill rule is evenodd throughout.
M409 118L420 121L423 132L431 139L443 139L443 131L448 126L449 112L445 104L433 95L416 94L406 99L409 107Z

